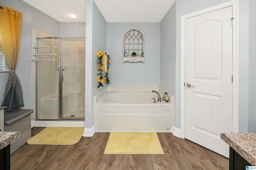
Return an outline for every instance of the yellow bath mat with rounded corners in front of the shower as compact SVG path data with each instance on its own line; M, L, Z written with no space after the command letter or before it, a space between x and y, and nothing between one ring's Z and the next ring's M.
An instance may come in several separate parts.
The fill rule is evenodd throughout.
M27 140L28 144L73 145L82 137L84 127L46 127Z

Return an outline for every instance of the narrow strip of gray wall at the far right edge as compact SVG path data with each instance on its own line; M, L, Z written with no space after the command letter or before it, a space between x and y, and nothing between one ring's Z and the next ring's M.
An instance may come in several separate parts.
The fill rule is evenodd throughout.
M248 132L256 133L256 1L249 0L249 116Z

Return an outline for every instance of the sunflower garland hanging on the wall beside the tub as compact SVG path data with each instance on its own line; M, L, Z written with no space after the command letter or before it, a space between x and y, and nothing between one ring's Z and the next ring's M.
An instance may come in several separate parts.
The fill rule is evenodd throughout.
M103 53L102 51L97 52L98 56L98 88L103 87L104 85L102 82L104 81L105 84L109 84L109 77L108 77L108 69L109 69L109 64L110 64L110 57L107 53Z

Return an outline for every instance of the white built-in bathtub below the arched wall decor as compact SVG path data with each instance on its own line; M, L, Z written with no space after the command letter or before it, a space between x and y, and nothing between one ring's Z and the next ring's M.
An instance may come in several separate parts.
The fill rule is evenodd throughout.
M156 86L108 86L94 95L94 128L96 132L148 131L171 132L173 96L162 99L164 89ZM153 99L156 103L153 103Z

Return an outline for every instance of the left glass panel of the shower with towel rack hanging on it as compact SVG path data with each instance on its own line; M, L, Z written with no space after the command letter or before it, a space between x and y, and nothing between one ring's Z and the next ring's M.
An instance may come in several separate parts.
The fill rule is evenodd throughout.
M36 119L59 120L59 39L36 39ZM54 58L52 57L54 56ZM48 61L54 59L54 61Z

